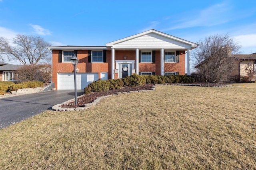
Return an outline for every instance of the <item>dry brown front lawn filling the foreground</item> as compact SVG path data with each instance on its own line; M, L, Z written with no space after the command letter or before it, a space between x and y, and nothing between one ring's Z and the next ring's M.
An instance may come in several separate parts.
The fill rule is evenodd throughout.
M255 92L156 86L46 111L0 130L0 169L255 169Z

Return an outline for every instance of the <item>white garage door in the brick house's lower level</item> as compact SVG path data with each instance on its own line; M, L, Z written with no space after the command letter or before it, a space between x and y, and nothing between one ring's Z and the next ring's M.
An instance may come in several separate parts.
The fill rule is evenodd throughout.
M93 81L98 80L98 73L76 73L76 89L82 90ZM74 73L58 73L58 90L73 90Z

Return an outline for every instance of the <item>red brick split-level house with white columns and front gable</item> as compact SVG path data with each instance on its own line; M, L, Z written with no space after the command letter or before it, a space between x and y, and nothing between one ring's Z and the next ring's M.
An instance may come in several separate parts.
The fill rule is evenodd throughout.
M47 47L52 50L52 82L55 88L74 89L76 55L77 89L95 80L140 75L190 75L190 50L198 44L151 29L130 37L106 43L106 46Z

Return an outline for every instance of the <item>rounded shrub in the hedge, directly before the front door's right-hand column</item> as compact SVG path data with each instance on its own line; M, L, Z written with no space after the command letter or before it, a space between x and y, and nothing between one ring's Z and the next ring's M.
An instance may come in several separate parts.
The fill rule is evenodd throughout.
M142 86L146 84L146 78L137 74L127 76L122 80L124 81L124 87Z

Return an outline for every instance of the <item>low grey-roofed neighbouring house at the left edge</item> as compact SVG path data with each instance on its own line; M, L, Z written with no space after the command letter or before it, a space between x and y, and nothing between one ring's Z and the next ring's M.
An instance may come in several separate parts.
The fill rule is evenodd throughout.
M13 81L17 77L15 71L22 65L0 62L0 81Z

